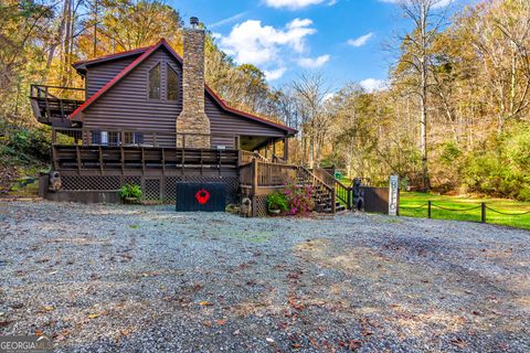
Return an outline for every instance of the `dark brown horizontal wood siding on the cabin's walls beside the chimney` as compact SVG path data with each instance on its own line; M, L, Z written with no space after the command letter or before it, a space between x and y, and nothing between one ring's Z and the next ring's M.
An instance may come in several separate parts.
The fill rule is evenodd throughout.
M132 61L132 58L128 58L128 61ZM162 63L161 99L148 99L148 72L159 62ZM177 101L166 100L166 63L169 63L179 75L179 99ZM112 67L104 67L108 65ZM87 85L91 85L89 92L93 93L96 87L114 78L117 75L117 67L125 67L124 65L125 60L121 60L119 64L115 64L115 62L100 64L95 74L96 78L92 76L94 69L91 68L87 78ZM136 130L146 135L149 131L162 130L168 132L168 139L171 137L174 139L177 117L182 110L181 78L181 64L166 49L159 49L84 111L84 127L91 130ZM229 149L235 148L234 137L239 136L285 136L285 131L280 129L224 110L208 92L205 92L204 99L205 113L211 124L212 147L222 145ZM216 137L215 135L223 136ZM146 140L146 143L149 141Z

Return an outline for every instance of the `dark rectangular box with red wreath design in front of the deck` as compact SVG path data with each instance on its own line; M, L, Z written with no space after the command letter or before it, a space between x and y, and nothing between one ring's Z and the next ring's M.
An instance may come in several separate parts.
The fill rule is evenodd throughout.
M226 206L224 183L177 183L177 212L221 212Z

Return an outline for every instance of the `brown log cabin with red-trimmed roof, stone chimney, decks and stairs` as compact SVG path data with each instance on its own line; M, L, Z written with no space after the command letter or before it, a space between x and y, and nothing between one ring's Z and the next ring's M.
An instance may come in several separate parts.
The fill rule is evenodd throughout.
M295 129L231 108L204 83L205 34L195 18L183 35L183 58L162 39L74 63L83 88L32 85L32 109L52 127L52 169L61 176L54 192L41 178L42 196L118 202L116 191L135 183L147 201L174 201L178 183L216 182L226 203L247 196L252 215L264 215L266 195L296 180L314 186L322 212L343 208L337 196L349 205L335 178L288 163Z

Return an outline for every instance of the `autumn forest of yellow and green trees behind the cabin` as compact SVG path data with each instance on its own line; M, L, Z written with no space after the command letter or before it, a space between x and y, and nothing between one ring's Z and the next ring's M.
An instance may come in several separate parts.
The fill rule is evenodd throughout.
M388 45L396 60L385 89L330 92L321 72L273 88L212 35L206 82L231 105L296 127L294 162L375 184L395 173L412 188L530 200L530 1L483 0L454 15L439 1L402 1L411 31ZM30 83L81 86L76 60L162 36L182 53L182 25L159 0L2 0L1 119L35 126Z

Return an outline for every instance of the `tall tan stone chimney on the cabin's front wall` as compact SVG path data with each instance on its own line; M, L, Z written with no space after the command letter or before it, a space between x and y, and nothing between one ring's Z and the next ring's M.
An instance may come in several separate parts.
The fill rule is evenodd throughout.
M184 30L182 113L177 118L177 147L184 143L186 147L210 148L210 119L204 111L205 34L199 28L197 18L191 18L190 24L191 26ZM182 133L186 133L186 137Z

